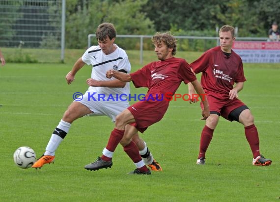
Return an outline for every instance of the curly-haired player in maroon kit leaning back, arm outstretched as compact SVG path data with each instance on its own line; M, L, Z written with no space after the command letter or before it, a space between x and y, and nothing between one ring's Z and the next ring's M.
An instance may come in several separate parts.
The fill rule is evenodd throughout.
M166 95L173 95L182 81L185 84L191 82L199 95L204 95L204 90L196 80L186 60L175 58L176 39L168 33L157 33L153 36L155 52L159 61L151 62L132 74L120 73L114 70L107 71L106 76L112 76L123 81L133 81L136 87L147 87L148 92L144 101L138 101L122 111L117 117L115 128L112 130L103 155L96 161L86 165L87 170L99 170L112 166L112 155L118 143L133 160L136 169L131 174L151 174L141 159L139 151L133 141L133 135L144 132L148 126L159 122L168 109L169 101ZM170 98L170 97L169 97ZM207 119L210 114L207 99L200 96L203 109L202 118Z

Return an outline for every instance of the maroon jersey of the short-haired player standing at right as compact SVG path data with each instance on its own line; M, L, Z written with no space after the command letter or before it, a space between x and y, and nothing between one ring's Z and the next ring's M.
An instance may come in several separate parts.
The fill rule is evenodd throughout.
M246 81L240 56L234 51L226 56L221 47L204 52L191 67L196 74L202 72L201 85L205 91L228 95L234 82Z

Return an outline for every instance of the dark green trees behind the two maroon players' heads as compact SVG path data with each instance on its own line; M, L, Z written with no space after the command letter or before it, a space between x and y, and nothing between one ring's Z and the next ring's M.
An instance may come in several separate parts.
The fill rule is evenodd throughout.
M267 36L272 22L280 19L279 0L149 0L143 10L158 31L232 25L238 36Z

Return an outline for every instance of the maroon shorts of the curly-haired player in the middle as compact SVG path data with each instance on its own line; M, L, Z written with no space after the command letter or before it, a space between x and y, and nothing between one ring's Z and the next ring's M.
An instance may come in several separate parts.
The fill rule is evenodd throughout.
M138 101L127 109L132 113L136 123L130 125L135 126L141 133L143 133L148 126L159 122L165 115L168 109L169 101L163 99L157 101L149 99L148 101Z

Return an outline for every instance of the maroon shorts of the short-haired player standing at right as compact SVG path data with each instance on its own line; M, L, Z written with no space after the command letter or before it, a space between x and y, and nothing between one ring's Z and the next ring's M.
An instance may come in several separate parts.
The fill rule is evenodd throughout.
M224 96L218 93L207 92L206 94L207 94L207 101L209 103L210 114L219 114L229 121L233 121L228 118L230 112L232 112L234 109L238 107L246 106L242 101L240 101L237 98L234 98L233 100L229 100L228 96ZM203 109L202 102L200 102L200 106Z

